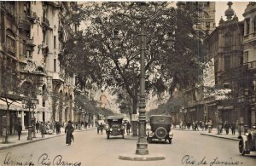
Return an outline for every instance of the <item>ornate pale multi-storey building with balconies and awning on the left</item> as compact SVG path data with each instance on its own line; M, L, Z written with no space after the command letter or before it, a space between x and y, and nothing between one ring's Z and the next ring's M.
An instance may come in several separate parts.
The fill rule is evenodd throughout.
M72 13L72 3L7 1L0 7L0 130L7 128L11 134L18 121L27 129L30 112L37 121L74 120L75 80L65 77L58 60L61 43L71 32L62 28L60 20ZM5 72L14 76L11 84L4 82L9 78ZM5 95L4 86L23 90ZM22 98L38 100L36 108L26 109Z

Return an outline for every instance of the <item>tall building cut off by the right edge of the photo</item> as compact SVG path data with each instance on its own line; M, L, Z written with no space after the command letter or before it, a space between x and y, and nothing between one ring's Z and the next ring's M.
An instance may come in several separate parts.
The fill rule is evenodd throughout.
M246 109L241 109L241 115L245 115L243 121L250 126L256 123L256 3L248 3L243 16L243 66L247 69L244 97L249 102L246 103Z

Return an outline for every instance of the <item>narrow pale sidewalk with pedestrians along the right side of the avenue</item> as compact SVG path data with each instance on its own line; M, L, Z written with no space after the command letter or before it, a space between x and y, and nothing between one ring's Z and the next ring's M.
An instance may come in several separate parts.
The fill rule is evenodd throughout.
M231 131L229 133L229 135L226 135L225 131L223 131L223 133L218 135L218 130L216 128L212 129L212 132L209 133L208 130L201 130L199 129L199 131L195 131L193 129L179 129L179 128L174 128L177 130L183 130L183 131L191 131L191 132L196 132L196 133L200 133L200 135L207 135L207 136L212 136L212 137L218 137L218 138L222 138L222 139L227 139L227 140L236 140L238 141L238 133L236 132L236 135L232 135Z

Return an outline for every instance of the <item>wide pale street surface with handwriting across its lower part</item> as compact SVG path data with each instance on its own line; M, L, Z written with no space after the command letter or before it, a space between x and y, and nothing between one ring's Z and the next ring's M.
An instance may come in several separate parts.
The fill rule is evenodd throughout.
M74 143L65 144L65 136L53 137L0 151L0 165L256 165L256 154L241 156L236 140L225 140L201 131L174 130L172 144L148 144L149 153L162 154L160 161L125 161L120 154L135 153L137 139L125 135L125 140L96 129L74 132ZM8 163L8 164L4 164ZM31 164L32 165L32 164Z

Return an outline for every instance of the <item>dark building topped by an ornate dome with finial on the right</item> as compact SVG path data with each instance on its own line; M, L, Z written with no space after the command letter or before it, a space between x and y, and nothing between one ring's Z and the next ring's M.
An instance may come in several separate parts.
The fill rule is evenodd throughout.
M238 21L232 3L227 3L224 11L226 20L221 18L219 26L207 38L207 60L214 60L214 83L212 95L205 97L206 118L214 124L224 121L236 122L239 118L235 97L240 84L236 82L236 74L242 67L242 31L243 21ZM236 74L235 74L236 73ZM232 95L231 99L227 96Z

